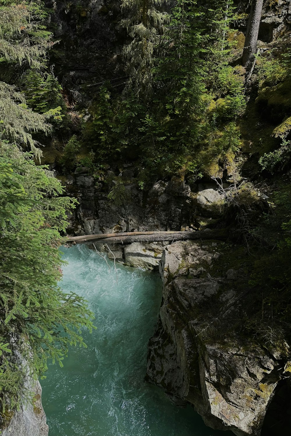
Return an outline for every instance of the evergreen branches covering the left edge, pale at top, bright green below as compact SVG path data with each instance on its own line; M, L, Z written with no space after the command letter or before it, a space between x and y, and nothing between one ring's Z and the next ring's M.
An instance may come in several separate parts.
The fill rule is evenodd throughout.
M44 375L48 358L62 364L70 344L85 346L81 328L91 330L92 313L81 297L58 287L60 232L75 200L64 197L54 174L33 160L41 156L34 134L50 133L47 119L61 116L62 109L54 107L61 103L55 78L40 75L51 45L42 24L44 3L0 4L2 65L8 72L11 65L30 69L31 79L27 100L16 86L0 82L0 416L5 420L7 408L28 394L27 371L35 378Z

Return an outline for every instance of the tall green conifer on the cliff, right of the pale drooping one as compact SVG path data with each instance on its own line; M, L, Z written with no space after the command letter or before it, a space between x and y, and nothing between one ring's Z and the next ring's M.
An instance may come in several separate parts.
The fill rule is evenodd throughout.
M178 0L159 45L159 63L153 69L156 98L140 128L143 161L154 174L196 171L191 155L204 92L202 39L196 2Z

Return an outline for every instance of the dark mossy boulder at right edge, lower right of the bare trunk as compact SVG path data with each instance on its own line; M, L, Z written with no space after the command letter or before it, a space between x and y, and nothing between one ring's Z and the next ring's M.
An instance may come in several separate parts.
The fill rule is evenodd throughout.
M277 123L282 121L291 112L291 79L285 80L276 86L267 86L256 99L256 106L264 112L264 116Z

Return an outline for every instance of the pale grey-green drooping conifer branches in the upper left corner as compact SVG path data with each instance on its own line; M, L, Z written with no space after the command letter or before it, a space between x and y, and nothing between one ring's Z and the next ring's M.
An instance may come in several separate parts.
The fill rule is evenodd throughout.
M17 91L15 86L0 81L0 136L18 144L28 146L40 160L41 150L33 133L51 132L47 120L63 117L64 102L60 97L60 88L52 75L47 75L45 81L37 70L46 66L47 48L51 47L51 33L45 30L43 24L47 13L41 1L22 1L14 3L1 0L0 4L0 60L9 70L11 65L24 65L30 68L27 75L28 102L36 111L27 107L25 96ZM32 78L37 77L38 88L42 95L37 95L36 86L30 90ZM58 97L57 97L58 94ZM47 102L43 103L43 99ZM58 105L54 106L53 103ZM43 109L47 110L43 110Z

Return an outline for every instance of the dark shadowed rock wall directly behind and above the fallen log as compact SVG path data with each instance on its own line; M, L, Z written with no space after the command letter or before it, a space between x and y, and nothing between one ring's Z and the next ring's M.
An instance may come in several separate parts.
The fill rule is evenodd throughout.
M122 176L120 176L122 177ZM71 217L75 235L132 231L168 231L200 228L207 221L213 202L222 198L216 183L193 184L183 180L158 181L148 191L141 191L134 178L125 183L118 204L108 199L108 187L96 189L86 170L64 180L67 192L79 201Z

